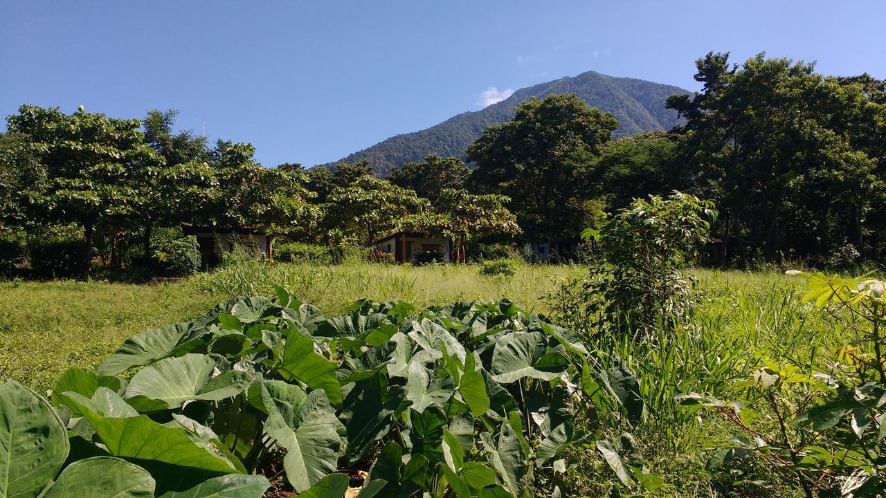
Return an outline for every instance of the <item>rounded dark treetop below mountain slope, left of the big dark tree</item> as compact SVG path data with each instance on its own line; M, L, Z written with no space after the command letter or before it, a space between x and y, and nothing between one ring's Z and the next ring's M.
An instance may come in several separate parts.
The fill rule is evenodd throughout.
M404 189L412 189L433 203L444 189L463 189L469 175L470 169L464 161L431 154L422 162L408 162L400 169L392 170L387 180Z

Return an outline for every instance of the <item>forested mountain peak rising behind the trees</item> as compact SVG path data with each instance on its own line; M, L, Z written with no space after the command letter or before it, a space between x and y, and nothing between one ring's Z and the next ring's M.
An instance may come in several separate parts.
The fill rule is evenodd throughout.
M689 91L662 83L587 71L518 89L510 97L479 111L456 114L431 128L392 136L336 163L369 160L376 175L387 176L392 169L423 160L428 154L463 158L464 150L483 134L487 126L510 121L514 118L514 108L532 97L544 98L555 93L574 93L587 105L612 113L620 123L613 136L619 137L649 129L672 128L678 122L677 113L665 109L664 101L672 94Z

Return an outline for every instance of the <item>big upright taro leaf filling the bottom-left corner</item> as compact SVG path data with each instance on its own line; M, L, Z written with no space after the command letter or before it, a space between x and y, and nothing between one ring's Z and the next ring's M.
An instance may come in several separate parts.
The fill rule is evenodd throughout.
M70 449L49 403L14 380L0 385L0 496L34 498Z

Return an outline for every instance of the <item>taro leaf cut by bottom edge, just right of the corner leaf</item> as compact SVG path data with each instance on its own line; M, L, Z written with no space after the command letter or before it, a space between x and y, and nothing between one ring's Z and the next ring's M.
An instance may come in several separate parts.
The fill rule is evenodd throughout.
M68 465L43 498L153 498L148 471L120 458L96 456Z

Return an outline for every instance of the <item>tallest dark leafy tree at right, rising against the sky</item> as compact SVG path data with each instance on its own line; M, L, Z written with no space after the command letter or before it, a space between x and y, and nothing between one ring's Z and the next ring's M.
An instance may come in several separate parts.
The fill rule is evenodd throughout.
M870 104L863 85L762 53L730 66L728 55L698 59L702 92L667 104L686 118L675 131L680 156L701 193L719 199L727 235L748 232L770 261L784 240L819 251L843 237L860 245L882 191L876 160L853 138Z

